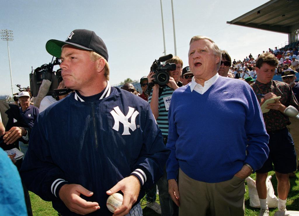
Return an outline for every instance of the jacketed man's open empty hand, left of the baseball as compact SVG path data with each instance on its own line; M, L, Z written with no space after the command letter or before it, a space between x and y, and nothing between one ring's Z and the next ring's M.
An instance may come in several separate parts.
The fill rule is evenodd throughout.
M80 197L90 197L93 192L79 184L65 184L59 190L59 197L68 209L80 215L86 215L100 209L97 202L88 202Z

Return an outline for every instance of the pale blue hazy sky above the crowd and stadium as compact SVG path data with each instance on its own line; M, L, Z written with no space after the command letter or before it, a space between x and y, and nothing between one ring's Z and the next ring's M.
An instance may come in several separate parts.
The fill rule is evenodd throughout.
M177 55L188 65L192 36L212 38L232 59L258 55L288 41L287 34L226 24L267 0L173 0ZM162 0L166 53L174 54L171 0ZM109 53L110 83L147 75L152 62L164 55L160 0L1 0L0 29L13 30L9 42L14 92L29 86L29 73L52 57L49 39L65 40L74 29L95 31ZM6 41L0 41L0 95L11 95Z

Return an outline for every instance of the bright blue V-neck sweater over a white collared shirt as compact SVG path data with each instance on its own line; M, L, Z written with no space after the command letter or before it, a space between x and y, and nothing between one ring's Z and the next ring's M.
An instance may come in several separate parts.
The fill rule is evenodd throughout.
M244 163L259 169L269 136L251 87L222 76L204 94L189 85L171 98L167 178L176 179L181 168L190 178L216 183L233 178Z

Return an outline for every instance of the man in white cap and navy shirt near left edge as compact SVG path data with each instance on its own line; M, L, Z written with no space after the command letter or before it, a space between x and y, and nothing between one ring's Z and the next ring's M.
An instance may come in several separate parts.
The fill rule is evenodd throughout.
M19 93L19 102L20 102L20 112L25 119L26 123L29 127L33 127L33 124L39 114L39 109L34 107L30 103L30 94L27 91L23 91ZM22 141L19 141L19 148L21 152L24 153L24 157L26 155L28 144L24 144Z

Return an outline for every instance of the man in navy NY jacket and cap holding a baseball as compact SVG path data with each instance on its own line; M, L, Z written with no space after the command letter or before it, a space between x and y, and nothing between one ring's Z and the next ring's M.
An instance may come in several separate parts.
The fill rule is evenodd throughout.
M39 114L22 180L61 215L112 215L106 200L118 191L114 215L142 215L139 201L169 155L149 104L109 85L108 51L93 31L49 40L46 50L61 58L65 87L75 92Z

